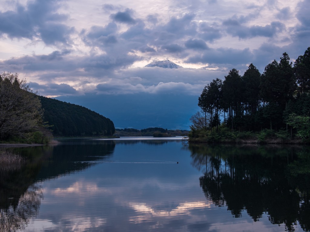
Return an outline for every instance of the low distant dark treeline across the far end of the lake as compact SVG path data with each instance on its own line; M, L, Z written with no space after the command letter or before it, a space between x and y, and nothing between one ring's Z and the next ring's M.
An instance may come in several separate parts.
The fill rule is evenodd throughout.
M154 137L173 137L173 136L187 136L186 130L168 130L162 127L148 127L146 129L138 130L133 128L116 129L115 136L132 137L132 136L154 136Z

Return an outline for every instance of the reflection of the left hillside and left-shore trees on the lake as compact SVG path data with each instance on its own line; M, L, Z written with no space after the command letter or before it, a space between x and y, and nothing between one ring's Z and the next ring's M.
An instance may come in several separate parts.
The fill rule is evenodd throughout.
M26 161L15 169L0 169L0 232L24 230L30 219L38 215L43 198L42 187L35 184L38 180L84 170L95 165L94 161L112 155L114 148L113 141L87 140L55 147L11 149L26 157Z

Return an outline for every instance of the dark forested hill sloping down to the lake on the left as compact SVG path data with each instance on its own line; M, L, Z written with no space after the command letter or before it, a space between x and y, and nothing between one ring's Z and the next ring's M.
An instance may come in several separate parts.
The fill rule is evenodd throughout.
M54 136L111 136L113 122L95 111L56 99L40 97L44 122Z

